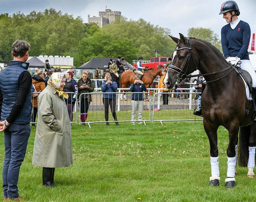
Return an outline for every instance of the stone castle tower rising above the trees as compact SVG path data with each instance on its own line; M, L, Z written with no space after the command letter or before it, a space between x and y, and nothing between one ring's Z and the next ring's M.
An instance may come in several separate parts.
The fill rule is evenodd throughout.
M119 19L121 17L121 12L106 9L105 11L100 11L99 16L100 17L90 17L90 15L88 15L88 23L94 22L102 28L104 25L111 24L112 22L115 22L115 20Z

